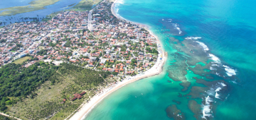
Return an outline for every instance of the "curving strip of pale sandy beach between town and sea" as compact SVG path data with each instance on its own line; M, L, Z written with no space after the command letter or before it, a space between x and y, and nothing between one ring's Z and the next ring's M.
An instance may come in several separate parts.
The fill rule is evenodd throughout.
M114 6L117 3L117 1L118 0L114 0L114 3L111 6L112 14L120 20L125 20L127 22L134 23L134 22L126 20L126 19L124 19L120 16L117 16L117 14L114 12ZM134 23L134 24L144 25L142 23ZM103 90L103 93L100 93L100 95L95 95L90 99L89 102L82 103L80 105L80 107L78 107L79 110L78 109L75 110L76 113L73 112L72 114L70 114L71 117L68 116L67 119L68 118L70 118L70 120L85 119L85 117L92 111L92 109L99 102L101 102L105 97L107 97L107 95L110 95L115 90L118 90L119 88L122 88L124 85L127 85L129 83L133 83L137 80L141 80L143 78L149 78L151 76L159 75L162 72L163 66L166 62L168 54L167 54L167 52L164 52L162 43L159 40L159 38L156 35L154 35L154 33L151 32L151 30L149 30L149 26L148 25L144 25L144 26L145 26L144 29L148 30L149 34L153 35L156 38L157 44L159 44L161 46L161 47L158 47L158 49L157 49L159 54L158 54L158 58L157 58L156 63L154 64L154 66L152 66L149 70L145 71L144 73L138 74L137 76L130 76L129 78L126 78L126 79L122 80L122 82L118 82L114 86L110 86L109 88L105 88L105 90Z

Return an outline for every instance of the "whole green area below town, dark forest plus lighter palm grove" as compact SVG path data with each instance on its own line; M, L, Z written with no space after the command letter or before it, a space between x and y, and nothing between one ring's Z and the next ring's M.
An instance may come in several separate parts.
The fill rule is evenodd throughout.
M0 111L21 119L45 119L54 113L51 119L65 119L107 85L109 75L65 63L53 66L41 61L28 68L7 64L0 68ZM87 92L82 99L70 100L82 91Z

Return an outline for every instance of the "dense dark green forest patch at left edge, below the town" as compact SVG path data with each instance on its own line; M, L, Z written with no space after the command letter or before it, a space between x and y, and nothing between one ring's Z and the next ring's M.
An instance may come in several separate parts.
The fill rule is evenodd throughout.
M33 64L23 68L20 64L6 64L0 68L0 100L1 111L7 109L6 105L14 104L21 97L26 97L44 83L58 66L52 66L44 62ZM9 97L18 99L10 100Z

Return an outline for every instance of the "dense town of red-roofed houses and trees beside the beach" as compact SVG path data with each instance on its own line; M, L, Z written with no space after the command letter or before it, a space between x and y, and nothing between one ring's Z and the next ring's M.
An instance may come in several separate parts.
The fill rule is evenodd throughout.
M91 11L61 11L41 22L4 26L0 29L0 66L30 56L24 67L51 61L114 75L133 76L148 70L159 54L156 38L143 25L116 18L111 5L102 1Z

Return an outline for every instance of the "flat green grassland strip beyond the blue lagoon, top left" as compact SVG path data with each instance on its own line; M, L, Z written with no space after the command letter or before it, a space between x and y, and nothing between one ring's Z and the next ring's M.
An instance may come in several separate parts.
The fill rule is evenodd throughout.
M30 11L37 11L44 9L45 6L49 6L51 4L55 4L57 1L60 0L36 0L36 1L31 1L30 5L28 6L14 6L10 8L1 8L0 9L0 16L11 16L11 15L16 15L18 13L26 13Z

